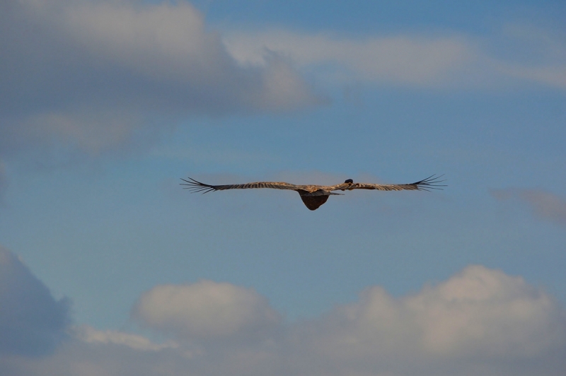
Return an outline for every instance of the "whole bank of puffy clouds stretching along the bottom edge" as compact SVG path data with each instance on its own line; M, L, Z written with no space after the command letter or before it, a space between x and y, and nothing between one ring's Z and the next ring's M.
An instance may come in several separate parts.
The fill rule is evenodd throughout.
M565 310L523 278L479 265L400 298L370 286L357 302L293 324L282 324L255 291L212 281L156 286L133 312L180 341L79 327L53 356L4 358L0 372L558 376L566 369ZM281 335L246 340L265 325Z

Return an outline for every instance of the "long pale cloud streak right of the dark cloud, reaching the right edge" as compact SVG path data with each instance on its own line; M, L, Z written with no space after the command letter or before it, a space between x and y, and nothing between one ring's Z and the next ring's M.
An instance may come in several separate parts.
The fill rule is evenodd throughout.
M223 40L240 64L262 66L265 57L276 52L323 81L335 83L501 88L533 81L566 88L563 40L541 30L533 33L532 28L525 33L525 28L504 25L501 34L485 38L458 33L345 37L282 29L233 31ZM525 58L531 54L541 58Z

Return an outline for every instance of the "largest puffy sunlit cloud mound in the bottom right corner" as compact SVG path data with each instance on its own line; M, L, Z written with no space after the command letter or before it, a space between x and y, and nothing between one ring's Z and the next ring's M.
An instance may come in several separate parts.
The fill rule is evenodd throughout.
M367 288L359 302L294 327L291 343L308 354L294 361L318 375L560 375L566 316L523 278L468 266L415 295Z

